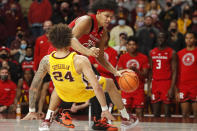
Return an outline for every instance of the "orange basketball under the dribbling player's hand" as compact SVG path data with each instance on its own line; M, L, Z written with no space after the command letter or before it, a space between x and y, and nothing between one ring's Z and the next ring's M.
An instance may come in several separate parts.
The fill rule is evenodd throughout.
M133 92L139 86L139 78L135 72L124 72L118 83L122 91Z

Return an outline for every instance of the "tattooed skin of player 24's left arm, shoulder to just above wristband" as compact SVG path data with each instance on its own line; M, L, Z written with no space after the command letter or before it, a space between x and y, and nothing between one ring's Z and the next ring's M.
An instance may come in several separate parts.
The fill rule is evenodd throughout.
M29 90L29 107L35 108L38 91L42 82L42 79L46 75L49 68L49 56L43 57L40 61L38 71L36 72L30 90Z

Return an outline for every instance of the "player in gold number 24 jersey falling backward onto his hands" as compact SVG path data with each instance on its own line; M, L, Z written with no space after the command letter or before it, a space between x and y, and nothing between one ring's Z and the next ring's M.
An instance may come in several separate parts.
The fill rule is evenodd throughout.
M113 80L100 77L98 82L89 60L85 56L77 55L75 52L71 53L69 51L71 38L71 29L69 29L67 25L58 24L51 28L49 39L57 51L52 52L41 60L38 71L31 84L30 92L32 92L33 95L30 94L29 99L30 104L34 105L34 107L35 102L33 102L33 100L36 99L35 94L38 92L37 86L47 72L50 74L55 86L45 121L41 124L40 129L49 129L54 110L61 100L66 102L85 102L95 95L102 108L101 116L109 120L114 120L115 118L108 111L103 90L109 93L112 102L120 109L121 116L128 119L129 114L123 106L121 95L113 83ZM105 83L106 86L104 85ZM93 90L91 90L89 85L91 85ZM35 113L35 109L30 108L24 120L37 117L38 114ZM64 126L74 128L68 114L65 116L64 121L65 120L68 121L68 124ZM113 125L106 126L108 126L106 127L107 130L109 130L109 128L110 130L118 130L117 127Z

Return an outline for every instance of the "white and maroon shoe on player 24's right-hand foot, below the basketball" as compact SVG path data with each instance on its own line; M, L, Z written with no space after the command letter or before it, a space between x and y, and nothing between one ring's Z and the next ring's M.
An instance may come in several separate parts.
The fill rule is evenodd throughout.
M130 115L130 119L122 118L121 128L131 129L139 123L139 119L133 115Z

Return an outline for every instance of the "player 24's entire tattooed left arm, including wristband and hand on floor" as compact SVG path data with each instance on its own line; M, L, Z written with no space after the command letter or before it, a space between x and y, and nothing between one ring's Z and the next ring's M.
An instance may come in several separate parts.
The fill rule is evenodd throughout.
M40 61L38 71L36 72L32 84L29 89L29 113L23 118L23 120L38 119L37 113L35 113L35 104L37 95L39 94L39 85L42 82L49 68L49 56L44 56Z

